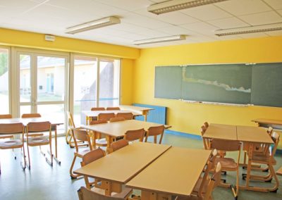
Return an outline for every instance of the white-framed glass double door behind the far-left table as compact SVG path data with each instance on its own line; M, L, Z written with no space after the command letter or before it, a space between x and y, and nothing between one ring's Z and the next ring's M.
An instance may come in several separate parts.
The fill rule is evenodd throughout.
M20 115L65 118L67 56L18 52Z

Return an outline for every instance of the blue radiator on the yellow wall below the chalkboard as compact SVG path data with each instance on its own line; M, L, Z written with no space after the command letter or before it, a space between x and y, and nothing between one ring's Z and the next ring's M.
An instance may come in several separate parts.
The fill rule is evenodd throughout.
M147 121L151 123L166 124L166 107L164 106L152 106L146 104L133 104L133 106L153 108L147 115ZM144 120L144 116L138 116L136 120Z

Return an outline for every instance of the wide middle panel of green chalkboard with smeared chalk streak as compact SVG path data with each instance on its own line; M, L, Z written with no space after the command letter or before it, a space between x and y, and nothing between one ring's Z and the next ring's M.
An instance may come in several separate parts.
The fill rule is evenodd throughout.
M183 67L183 99L250 104L252 66L245 64Z

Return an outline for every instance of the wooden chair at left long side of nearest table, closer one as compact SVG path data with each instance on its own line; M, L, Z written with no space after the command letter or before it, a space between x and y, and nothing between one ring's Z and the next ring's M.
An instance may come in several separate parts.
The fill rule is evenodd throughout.
M106 152L103 151L102 149L94 149L93 151L89 151L88 153L86 153L82 156L81 166L92 163L92 162L94 162L94 161L96 161L99 158L102 158L104 156L106 156ZM90 189L93 184L94 184L94 187L99 187L98 186L98 180L96 180L96 179L95 179L94 183L90 183L89 180L88 180L88 177L85 175L84 180L85 180L85 185L88 189Z

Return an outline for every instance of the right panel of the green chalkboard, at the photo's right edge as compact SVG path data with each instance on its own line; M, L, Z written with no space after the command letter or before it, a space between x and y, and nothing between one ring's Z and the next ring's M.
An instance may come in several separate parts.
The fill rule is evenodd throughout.
M252 104L282 107L282 63L253 65Z

